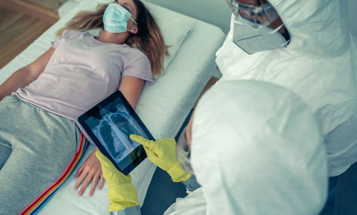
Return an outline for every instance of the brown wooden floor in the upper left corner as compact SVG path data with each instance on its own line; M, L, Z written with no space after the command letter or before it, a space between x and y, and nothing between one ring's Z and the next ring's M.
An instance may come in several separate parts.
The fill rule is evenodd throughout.
M67 0L0 0L0 69L54 24Z

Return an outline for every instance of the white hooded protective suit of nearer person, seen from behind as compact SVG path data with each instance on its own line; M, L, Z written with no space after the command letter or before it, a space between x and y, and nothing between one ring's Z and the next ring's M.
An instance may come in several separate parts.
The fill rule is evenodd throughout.
M326 151L311 109L291 91L262 81L216 84L198 101L191 135L202 187L166 214L310 215L323 207Z

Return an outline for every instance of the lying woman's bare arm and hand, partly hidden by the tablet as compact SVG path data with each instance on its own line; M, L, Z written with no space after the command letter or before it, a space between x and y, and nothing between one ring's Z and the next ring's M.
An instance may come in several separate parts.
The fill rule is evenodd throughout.
M145 81L143 79L138 79L132 76L124 76L121 79L119 90L125 96L126 100L129 101L129 104L133 108L135 108L136 103L138 103L139 96L144 88L144 84ZM86 161L84 161L84 164L79 168L79 170L76 172L76 175L74 176L75 178L79 178L74 185L74 189L76 190L79 188L79 186L81 186L81 189L79 189L80 196L84 193L86 187L91 181L92 183L89 196L94 194L94 190L96 189L96 185L98 184L99 179L99 189L101 189L104 185L101 163L96 158L96 150L97 148L94 149L94 151L88 156Z

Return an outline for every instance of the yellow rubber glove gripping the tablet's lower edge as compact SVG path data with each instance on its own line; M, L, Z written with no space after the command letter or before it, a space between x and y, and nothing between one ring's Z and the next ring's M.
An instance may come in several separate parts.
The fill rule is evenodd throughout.
M101 151L96 151L96 157L101 161L101 170L109 187L109 211L120 211L139 205L135 186L131 184L131 176L122 174Z

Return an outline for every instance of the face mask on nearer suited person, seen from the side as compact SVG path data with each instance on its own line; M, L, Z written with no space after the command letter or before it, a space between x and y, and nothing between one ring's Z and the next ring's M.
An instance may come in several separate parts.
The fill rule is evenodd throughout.
M178 163L181 164L184 170L188 171L191 175L193 174L193 169L191 166L191 150L190 147L188 146L188 142L186 139L186 130L187 126L183 131L181 132L180 136L178 137L177 140L177 146L176 146L176 156Z

